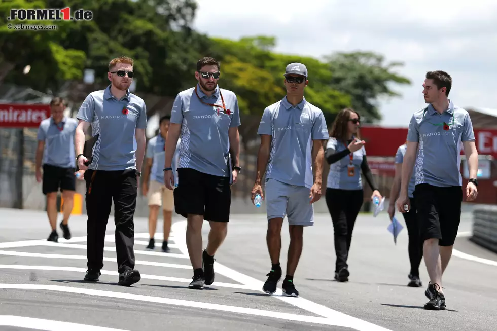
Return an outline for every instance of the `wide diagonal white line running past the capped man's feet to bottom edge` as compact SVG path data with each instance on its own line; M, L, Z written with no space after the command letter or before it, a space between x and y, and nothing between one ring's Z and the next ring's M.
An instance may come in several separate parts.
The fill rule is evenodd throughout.
M178 245L178 248L181 250L181 252L184 254L188 254L188 249L186 247L186 242L184 240L181 241L180 238L185 238L186 225L187 225L186 220L181 222L176 222L172 225L172 230L175 233L176 238L178 238L176 244ZM233 269L225 267L220 263L218 263L217 261L214 263L214 270L216 273L219 273L225 277L233 279L236 282L243 283L250 288L254 288L255 290L264 293L264 291L262 290L264 282L260 280L257 280L250 276L239 273ZM349 327L358 331L390 331L387 328L375 325L367 321L363 321L356 317L346 315L344 313L330 309L323 305L316 304L304 298L284 297L282 296L282 291L280 288L277 289L276 295L273 295L272 297L282 300L293 306L299 307L301 309L307 310L316 315L323 316L326 319L332 321L333 324L330 325Z

